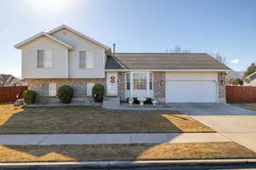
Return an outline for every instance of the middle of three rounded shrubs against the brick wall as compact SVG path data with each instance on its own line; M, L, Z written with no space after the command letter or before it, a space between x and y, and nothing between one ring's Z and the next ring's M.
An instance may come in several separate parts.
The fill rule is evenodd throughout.
M64 85L58 89L58 97L63 104L69 104L73 98L73 88L70 86Z

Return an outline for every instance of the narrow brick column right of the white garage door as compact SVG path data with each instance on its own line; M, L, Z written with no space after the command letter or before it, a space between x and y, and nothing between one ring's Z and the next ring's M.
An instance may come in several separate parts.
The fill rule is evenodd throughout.
M225 72L218 72L218 102L226 102L226 91L225 91Z

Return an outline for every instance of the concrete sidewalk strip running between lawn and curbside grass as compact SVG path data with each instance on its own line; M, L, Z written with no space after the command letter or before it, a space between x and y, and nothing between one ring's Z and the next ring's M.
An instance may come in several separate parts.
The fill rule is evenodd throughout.
M1 134L0 144L139 144L229 142L220 133Z

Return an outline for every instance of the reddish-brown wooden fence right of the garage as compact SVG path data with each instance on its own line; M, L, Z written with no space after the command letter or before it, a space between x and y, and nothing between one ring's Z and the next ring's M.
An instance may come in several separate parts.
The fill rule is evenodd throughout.
M227 103L256 103L256 87L226 86Z

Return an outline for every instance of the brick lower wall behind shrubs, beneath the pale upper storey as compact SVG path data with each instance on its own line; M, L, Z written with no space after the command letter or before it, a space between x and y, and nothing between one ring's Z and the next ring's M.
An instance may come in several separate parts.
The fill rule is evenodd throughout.
M60 88L63 85L69 85L71 87L79 87L84 82L94 82L101 83L104 85L104 79L87 79L87 78L79 78L79 79L71 79L71 78L50 78L50 79L27 79L28 89L35 91L37 96L38 103L58 103L59 99L54 96L42 96L43 94L43 83L44 82L55 82L56 88ZM81 96L74 97L73 101L90 101L93 100L90 96Z

